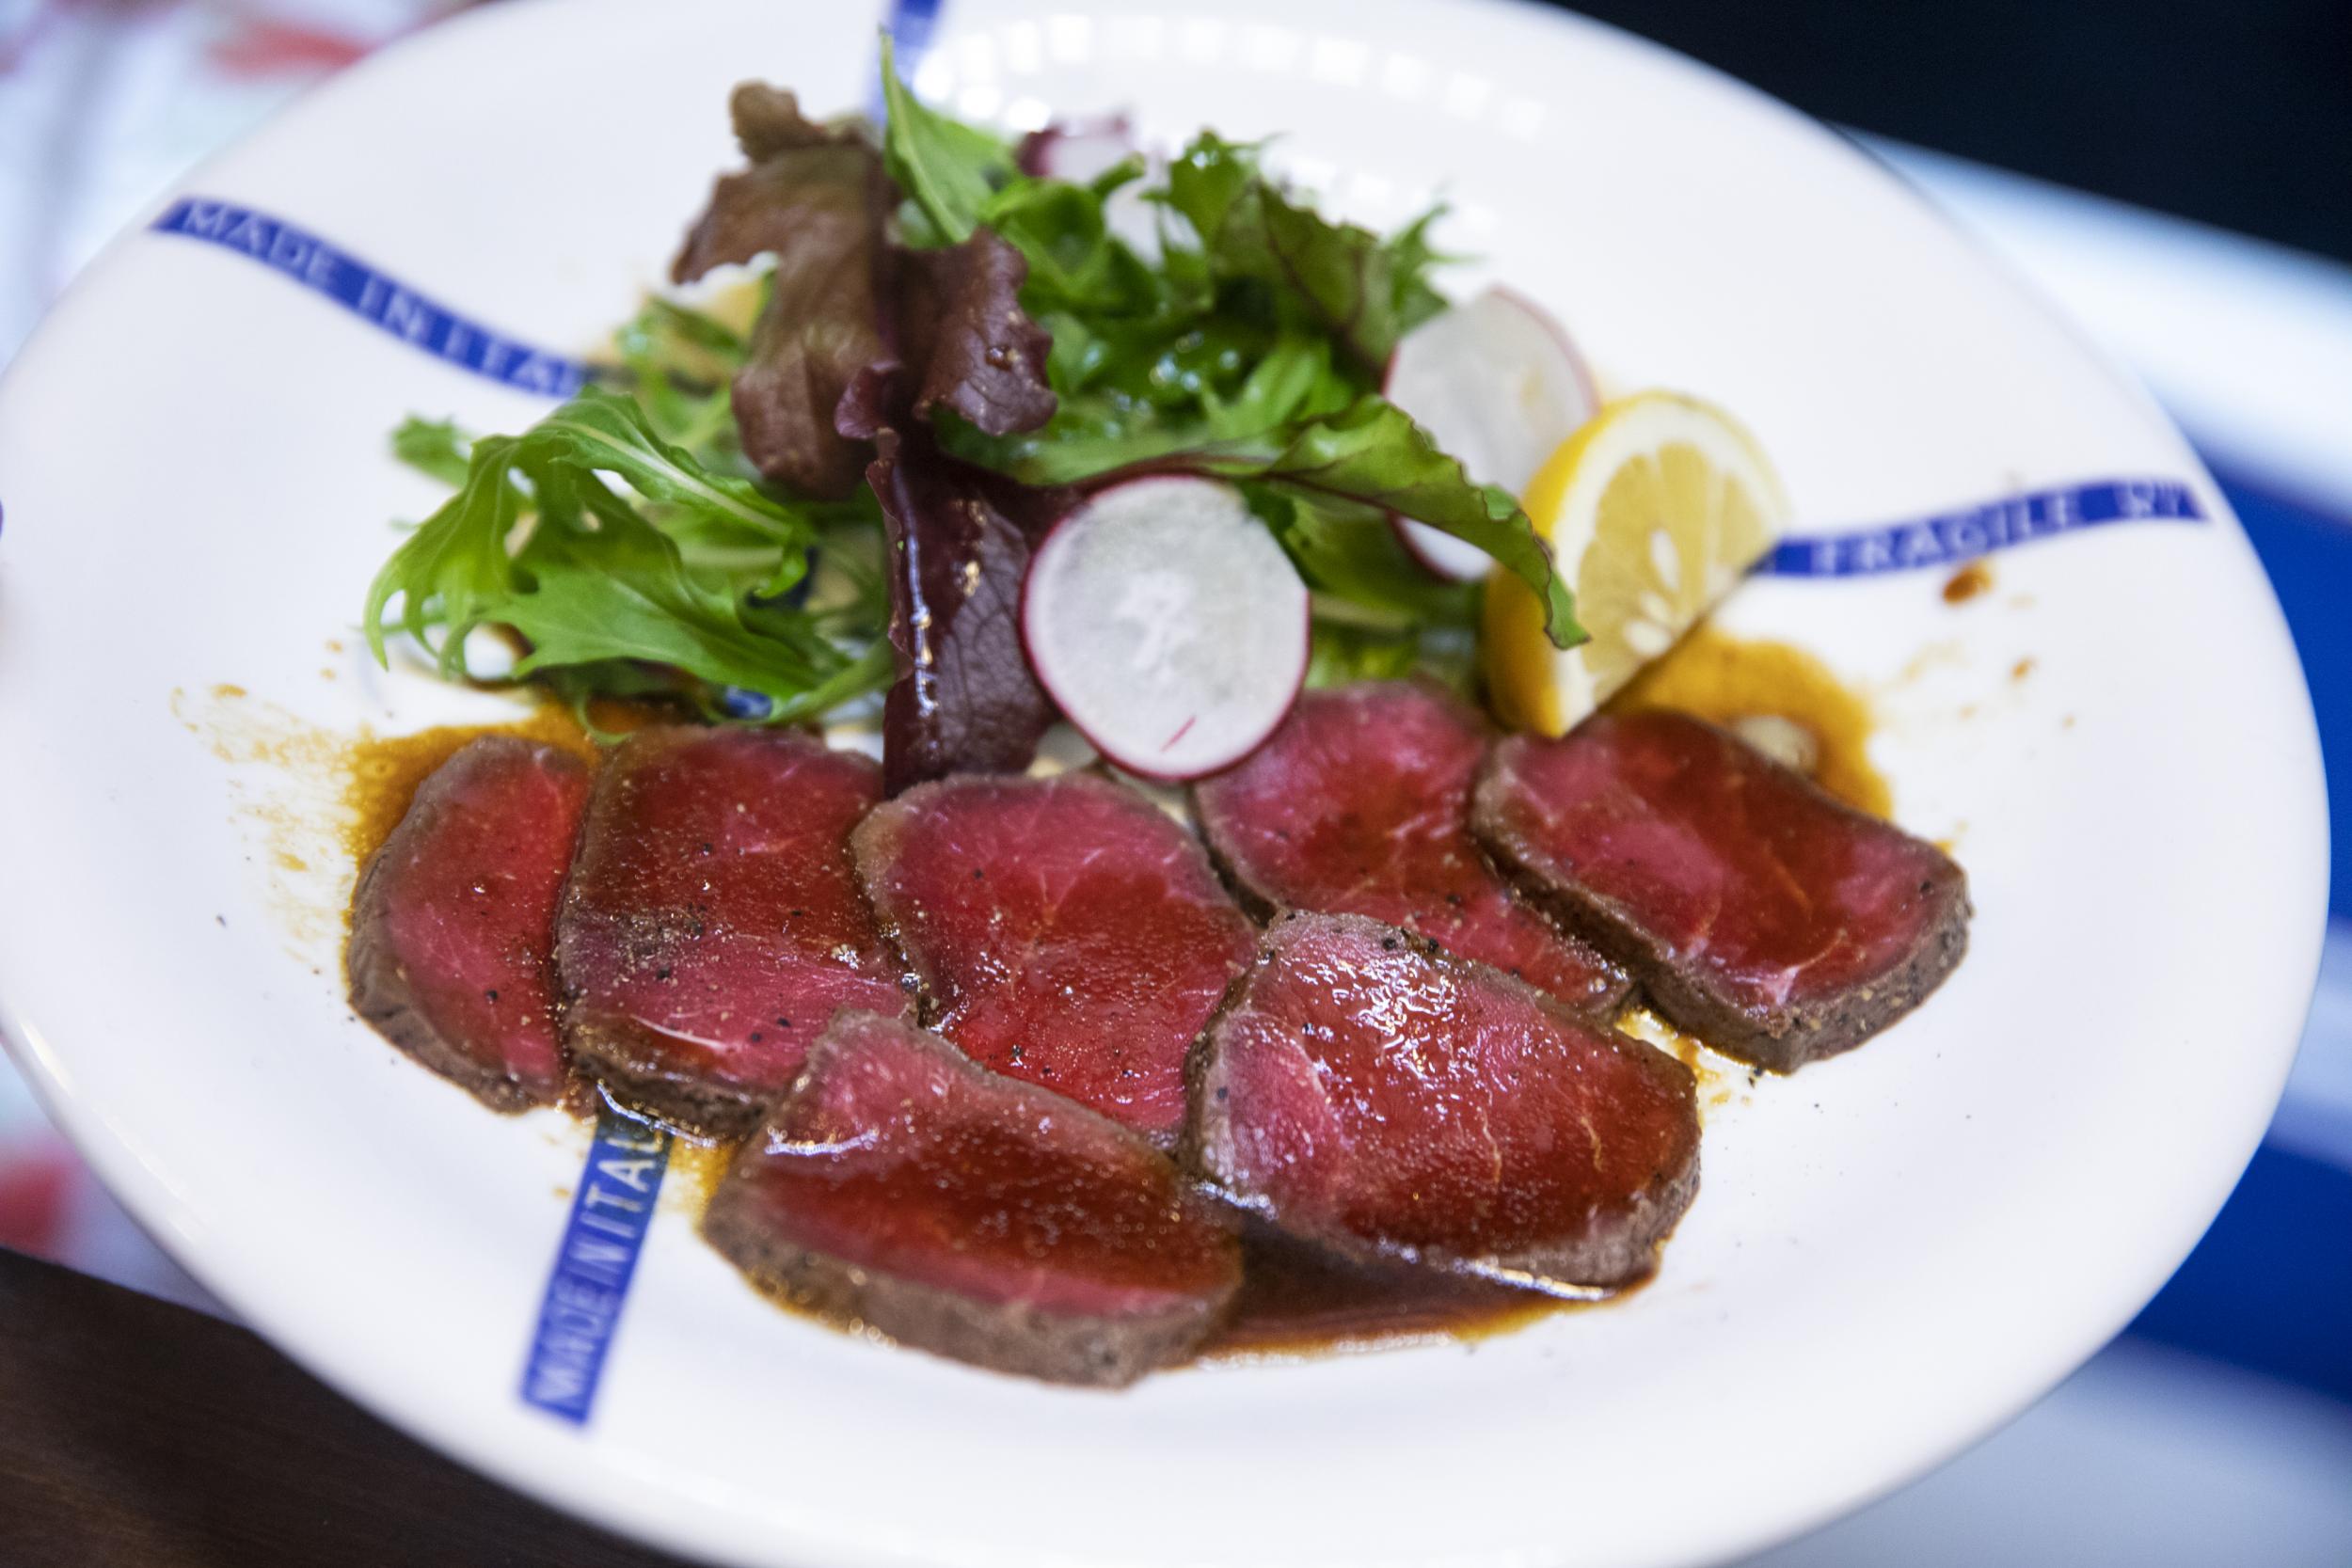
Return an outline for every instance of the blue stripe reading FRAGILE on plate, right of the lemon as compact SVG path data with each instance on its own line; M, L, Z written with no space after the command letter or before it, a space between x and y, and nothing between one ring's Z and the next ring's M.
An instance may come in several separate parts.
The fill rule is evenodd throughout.
M2204 522L2197 494L2180 480L2098 480L2037 489L1957 512L1889 522L1849 534L1783 538L1757 571L1773 576L1875 576L1957 567L2037 538L2110 522Z

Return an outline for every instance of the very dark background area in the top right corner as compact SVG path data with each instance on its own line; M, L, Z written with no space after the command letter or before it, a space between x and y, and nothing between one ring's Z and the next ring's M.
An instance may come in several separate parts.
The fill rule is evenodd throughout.
M2352 261L2347 0L1552 0L1797 108Z

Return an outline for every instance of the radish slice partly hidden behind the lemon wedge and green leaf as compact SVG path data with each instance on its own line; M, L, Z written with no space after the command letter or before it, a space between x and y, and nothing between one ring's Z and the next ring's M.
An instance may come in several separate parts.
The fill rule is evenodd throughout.
M1475 482L1512 496L1602 404L1569 334L1510 289L1486 289L1414 327L1388 357L1381 390ZM1477 545L1425 522L1399 517L1397 529L1437 576L1465 583L1494 567Z

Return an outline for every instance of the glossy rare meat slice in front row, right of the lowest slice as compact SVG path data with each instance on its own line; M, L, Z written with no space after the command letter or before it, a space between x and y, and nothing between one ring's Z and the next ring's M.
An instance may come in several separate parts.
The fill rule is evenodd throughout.
M1623 1286L1698 1187L1689 1067L1359 914L1291 914L1192 1058L1185 1159L1284 1232Z

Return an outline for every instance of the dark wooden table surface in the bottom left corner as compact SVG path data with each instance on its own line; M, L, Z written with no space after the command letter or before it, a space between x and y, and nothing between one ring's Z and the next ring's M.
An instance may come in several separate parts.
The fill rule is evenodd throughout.
M245 1328L9 1251L0 1561L677 1568L421 1448Z

